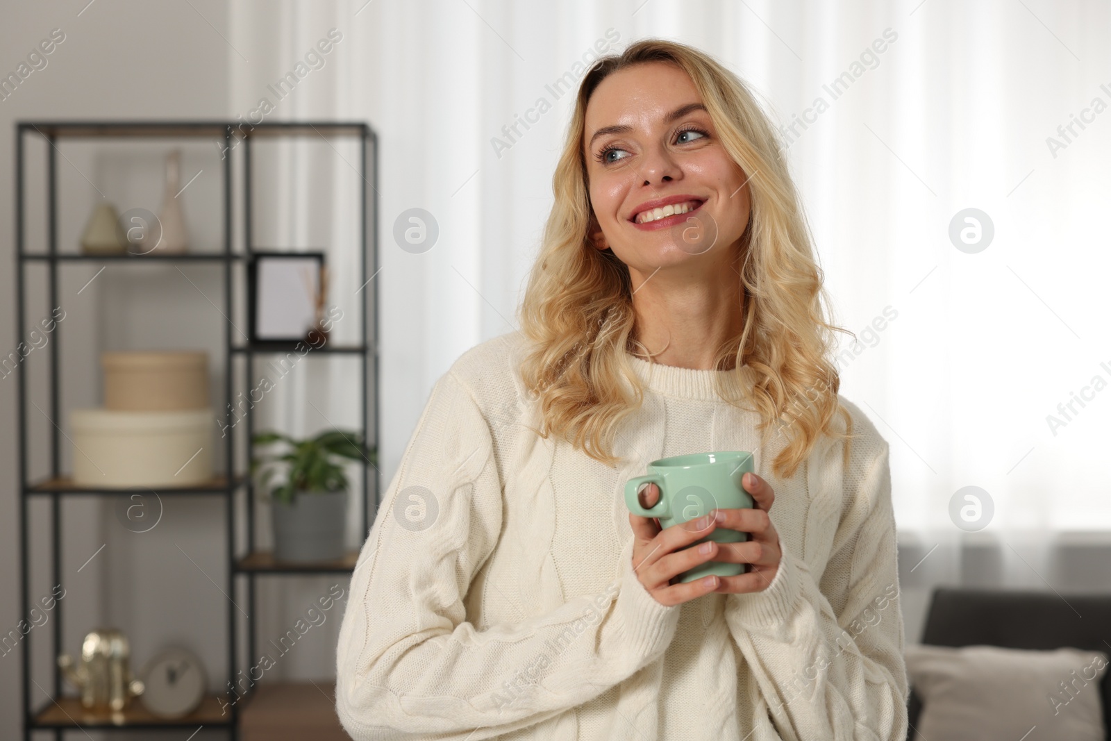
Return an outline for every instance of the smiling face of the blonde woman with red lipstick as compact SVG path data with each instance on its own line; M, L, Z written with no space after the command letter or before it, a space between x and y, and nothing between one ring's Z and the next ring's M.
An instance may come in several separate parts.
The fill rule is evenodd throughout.
M669 268L695 280L735 274L747 176L681 68L644 62L603 79L582 139L592 241L613 250L634 286Z

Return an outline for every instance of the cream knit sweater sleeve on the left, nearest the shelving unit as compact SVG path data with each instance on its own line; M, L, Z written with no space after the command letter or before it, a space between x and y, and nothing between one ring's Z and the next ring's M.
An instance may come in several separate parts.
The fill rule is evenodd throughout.
M679 610L657 602L631 562L599 594L520 622L472 624L463 600L502 535L502 485L490 424L448 371L351 578L337 712L357 741L479 741L532 725L601 694L670 644ZM480 583L511 594L502 582Z

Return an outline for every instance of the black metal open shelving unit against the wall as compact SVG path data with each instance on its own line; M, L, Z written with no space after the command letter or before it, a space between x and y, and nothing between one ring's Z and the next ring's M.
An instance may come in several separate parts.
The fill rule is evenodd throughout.
M237 130L238 129L238 130ZM26 143L28 138L39 137L46 140L46 244L44 249L28 250L27 233L27 207L26 194ZM222 250L211 253L191 252L184 254L82 254L61 252L58 249L58 154L60 154L59 142L76 139L129 139L129 138L161 138L161 139L193 139L193 138L223 138L224 157L221 164L222 181ZM239 138L241 143L241 154L237 158L233 151L237 147L232 143L232 138ZM59 292L59 273L66 266L104 263L104 266L116 266L117 263L142 263L142 262L210 262L222 267L223 301L222 311L226 318L233 316L233 296L237 279L233 276L233 266L237 263L247 264L253 252L252 242L252 189L253 180L251 164L251 144L254 140L273 140L279 137L313 137L328 141L334 137L354 137L359 141L359 166L357 171L360 176L360 213L359 213L359 304L360 304L360 333L361 341L357 346L324 346L306 353L306 357L331 357L331 356L357 356L361 359L361 383L362 404L361 419L362 432L367 444L377 449L379 443L379 398L378 398L378 338L380 337L378 307L379 291L373 277L379 269L378 254L378 136L368 124L362 122L317 122L317 121L281 121L261 122L250 126L244 130L241 121L21 121L16 124L16 323L17 338L20 343L26 343L29 331L24 324L26 302L28 299L27 280L28 268L34 263L46 267L46 281L49 306L57 307ZM338 153L338 152L337 152ZM63 156L64 157L64 156ZM243 250L233 250L233 229L236 213L232 199L232 168L239 166L243 168L243 198L242 198L242 229ZM350 164L350 162L349 162ZM354 166L352 166L354 167ZM247 271L240 271L241 296L246 296ZM31 605L30 594L30 515L28 504L32 498L46 498L49 501L50 517L50 573L51 583L62 584L61 574L61 543L62 543L62 519L61 504L72 497L119 497L128 495L137 489L96 489L80 487L68 479L61 470L61 435L62 430L58 424L61 419L60 408L60 373L59 373L59 350L61 344L62 327L59 324L53 330L53 340L50 342L49 353L49 408L48 418L52 424L50 428L50 473L38 480L30 480L30 464L28 451L32 441L29 439L28 427L28 381L27 363L20 362L18 367L18 423L19 423L19 549L20 549L20 614L28 615ZM254 369L256 356L281 352L281 348L273 346L243 346L232 340L230 319L223 324L223 349L224 349L224 421L232 423L231 403L233 394L234 359L244 360L244 388L251 388L251 375ZM293 346L291 344L290 348ZM247 470L247 461L252 457L251 438L253 435L252 404L246 409L246 447L242 471ZM242 421L242 420L240 420ZM237 422L238 423L238 422ZM227 539L228 563L226 569L226 582L228 591L237 594L237 588L244 585L247 590L248 614L254 615L257 580L260 577L282 577L282 575L311 575L329 573L350 573L354 568L358 551L351 551L339 561L320 564L289 564L277 562L270 553L261 552L256 548L256 515L253 482L249 475L240 472L239 461L236 455L236 434L229 434L224 439L224 460L227 470L223 475L217 475L211 481L179 489L161 489L160 495L171 497L222 497L224 500L224 534ZM362 533L370 529L370 522L378 508L381 492L381 473L369 460L362 465ZM146 491L144 489L141 491ZM237 543L236 509L237 498L246 497L247 538L246 543ZM242 547L242 548L240 548ZM243 583L246 582L246 584ZM51 655L61 652L62 644L62 615L63 610L69 605L59 600L54 605L53 628L50 631L52 651ZM228 643L228 682L237 677L237 672L244 668L241 662L246 653L249 665L256 655L256 620L253 617L246 619L247 650L241 652L238 645L237 635L240 630L240 617L234 603L229 599L227 605L227 643ZM238 739L240 732L240 720L244 708L249 708L248 702L236 702L230 705L229 712L223 712L219 698L221 692L206 695L201 707L186 718L166 721L153 718L147 713L139 702L133 702L124 711L122 720L97 718L82 712L78 698L64 695L62 692L62 677L57 665L52 667L52 681L49 688L42 688L50 695L50 700L38 708L31 707L30 685L31 674L31 643L36 639L41 639L38 632L29 631L23 638L22 649L22 697L20 705L23 719L24 741L31 741L39 731L51 732L56 740L62 738L67 730L80 733L84 729L111 729L117 730L154 730L154 729L197 729L203 725L207 729L223 728L231 739ZM138 670L139 667L132 667ZM38 682L36 682L38 684ZM221 688L226 687L221 682ZM41 687L41 685L39 685ZM260 684L259 687L264 687ZM317 690L313 690L316 692ZM258 692L257 688L250 689L240 698L248 700ZM288 693L284 695L288 697ZM319 699L318 699L319 700Z

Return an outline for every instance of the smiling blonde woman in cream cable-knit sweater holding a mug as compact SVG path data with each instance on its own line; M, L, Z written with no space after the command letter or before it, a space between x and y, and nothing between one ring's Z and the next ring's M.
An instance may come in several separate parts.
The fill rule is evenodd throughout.
M773 127L712 58L643 40L583 78L553 187L522 330L438 380L362 549L344 728L904 739L888 444L838 394ZM755 508L625 509L649 462L712 450L753 452ZM687 548L713 528L751 538ZM674 579L708 560L749 565Z

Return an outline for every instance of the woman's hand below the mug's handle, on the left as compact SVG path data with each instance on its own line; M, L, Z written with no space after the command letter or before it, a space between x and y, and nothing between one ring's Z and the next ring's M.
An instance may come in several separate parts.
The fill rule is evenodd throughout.
M641 507L653 507L660 500L660 489L649 482L641 487L637 498ZM730 511L735 510L722 510ZM660 523L654 518L642 518L630 512L629 524L632 525L633 534L632 569L648 593L660 604L674 607L723 587L722 578L717 575L687 583L670 583L671 579L700 563L727 560L718 552L718 543L710 545L705 553L699 552L697 548L687 548L713 532L715 524L711 515L660 530Z

